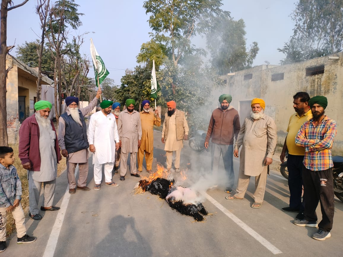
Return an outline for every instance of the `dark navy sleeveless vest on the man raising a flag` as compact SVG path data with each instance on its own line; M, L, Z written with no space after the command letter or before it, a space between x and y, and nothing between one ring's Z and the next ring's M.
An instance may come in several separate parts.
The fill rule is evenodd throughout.
M68 115L67 112L61 115L64 123L66 123L66 134L64 135L64 143L66 144L66 149L69 154L72 152L87 149L89 147L87 140L87 127L80 110L79 115L82 126L79 123L75 122L71 115Z

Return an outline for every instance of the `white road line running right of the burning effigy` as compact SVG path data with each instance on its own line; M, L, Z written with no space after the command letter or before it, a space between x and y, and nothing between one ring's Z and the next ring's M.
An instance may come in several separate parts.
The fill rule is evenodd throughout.
M268 242L264 237L262 237L260 234L258 234L255 230L250 228L247 224L245 224L243 221L241 221L239 218L237 218L232 212L227 210L223 205L218 203L216 200L214 200L211 196L205 193L206 198L218 209L220 209L227 217L232 219L239 227L241 227L243 230L245 230L249 235L251 235L253 238L255 238L258 242L260 242L265 248L270 250L273 254L282 254L282 252L277 249L274 245L272 245L270 242Z

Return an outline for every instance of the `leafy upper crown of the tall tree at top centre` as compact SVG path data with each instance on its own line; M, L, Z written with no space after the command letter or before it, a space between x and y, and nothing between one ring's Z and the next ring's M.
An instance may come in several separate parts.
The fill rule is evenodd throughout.
M143 4L146 13L151 13L149 25L153 30L152 41L162 44L163 54L173 61L174 66L183 61L185 55L205 54L205 51L191 44L195 35L202 35L217 16L229 17L229 12L220 9L221 0L147 0ZM156 42L156 43L155 43ZM151 49L153 46L145 46ZM155 60L156 61L156 60Z

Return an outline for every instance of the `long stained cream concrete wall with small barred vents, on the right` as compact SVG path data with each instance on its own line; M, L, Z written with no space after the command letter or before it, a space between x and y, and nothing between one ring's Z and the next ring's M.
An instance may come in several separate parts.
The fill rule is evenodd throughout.
M337 122L338 133L333 146L334 154L343 154L343 116L341 115L341 99L343 97L343 52L333 54L339 60L328 60L320 57L309 61L270 66L260 65L251 69L235 72L235 75L222 76L227 81L227 90L232 95L232 105L243 111L243 101L262 98L266 103L266 113L275 118L278 142L284 143L289 117L294 113L293 95L298 91L306 91L310 97L324 95L328 98L325 113ZM306 76L306 68L324 65L324 73ZM273 74L283 73L284 78L271 81ZM252 74L251 79L244 79ZM250 75L249 75L250 76ZM241 106L241 107L240 107Z

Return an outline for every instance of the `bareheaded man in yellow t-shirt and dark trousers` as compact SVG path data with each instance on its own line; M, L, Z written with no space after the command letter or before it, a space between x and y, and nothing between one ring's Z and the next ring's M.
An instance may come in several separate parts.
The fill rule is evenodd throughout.
M303 161L305 148L295 145L295 136L304 122L312 118L312 112L308 105L310 96L306 92L298 92L293 96L293 108L295 113L289 118L287 136L280 155L281 162L284 162L286 151L288 151L288 187L289 207L282 208L286 212L298 212L296 219L304 219L304 202L301 203L303 188Z

